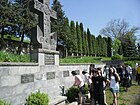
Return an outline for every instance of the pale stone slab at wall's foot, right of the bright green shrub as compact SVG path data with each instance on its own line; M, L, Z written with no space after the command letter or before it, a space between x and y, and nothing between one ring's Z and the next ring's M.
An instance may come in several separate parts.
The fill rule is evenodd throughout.
M58 96L57 98L50 100L49 105L65 105L67 97Z

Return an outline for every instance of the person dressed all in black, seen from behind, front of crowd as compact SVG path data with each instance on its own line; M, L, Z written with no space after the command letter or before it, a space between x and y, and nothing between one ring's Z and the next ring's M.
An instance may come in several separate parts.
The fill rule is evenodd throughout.
M104 103L104 84L109 82L108 79L105 77L101 76L99 70L94 70L92 71L93 76L92 76L92 100L94 105L96 105L96 102L98 102L99 105L105 105Z

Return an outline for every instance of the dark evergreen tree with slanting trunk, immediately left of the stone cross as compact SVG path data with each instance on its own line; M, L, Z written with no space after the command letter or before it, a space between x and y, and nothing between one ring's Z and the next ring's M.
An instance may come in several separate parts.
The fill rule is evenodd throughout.
M30 37L31 29L37 24L34 13L30 11L30 1L31 0L17 1L20 7L18 8L19 11L17 11L16 25L17 33L21 39L18 46L18 54L20 54L22 51L22 44L25 35Z

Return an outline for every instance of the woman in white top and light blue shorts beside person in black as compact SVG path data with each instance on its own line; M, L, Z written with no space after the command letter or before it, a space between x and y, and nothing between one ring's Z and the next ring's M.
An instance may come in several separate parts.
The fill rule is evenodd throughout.
M109 69L109 79L110 79L110 90L113 95L113 105L119 105L118 104L118 93L119 93L120 77L114 67L111 67Z

